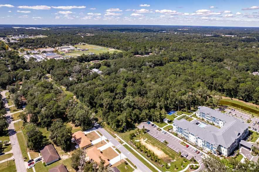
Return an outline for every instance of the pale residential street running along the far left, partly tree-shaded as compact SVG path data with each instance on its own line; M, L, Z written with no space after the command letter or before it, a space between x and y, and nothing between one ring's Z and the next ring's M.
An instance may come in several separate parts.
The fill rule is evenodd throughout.
M16 136L16 131L14 130L14 125L13 125L13 121L12 121L12 117L11 117L11 113L9 111L8 107L8 102L6 100L6 96L5 93L7 91L2 91L1 94L3 95L3 102L5 103L5 109L6 109L6 122L9 123L9 127L8 127L8 133L9 133L9 137L10 137L10 142L12 145L12 149L13 149L13 156L15 159L15 165L16 165L16 170L18 172L27 172L25 165L24 165L24 161L23 161L23 156L22 156L22 152L20 149L20 145L18 143L18 139Z

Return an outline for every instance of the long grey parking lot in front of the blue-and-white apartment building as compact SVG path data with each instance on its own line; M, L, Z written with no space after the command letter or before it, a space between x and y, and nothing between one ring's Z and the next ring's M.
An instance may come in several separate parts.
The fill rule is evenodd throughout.
M203 163L202 163L202 156L196 154L194 151L194 148L189 146L188 148L181 145L180 142L181 140L176 138L175 136L170 135L169 133L161 133L160 131L156 130L157 127L153 128L151 126L152 123L150 123L149 125L145 122L141 123L140 125L138 125L138 128L142 129L143 125L145 125L145 128L150 130L148 132L149 135L151 135L152 137L155 137L157 140L161 141L161 140L166 140L169 144L167 145L168 147L170 147L171 149L173 149L176 152L180 152L181 151L181 155L183 156L184 154L188 154L187 159L191 159L192 156L194 157L194 159L196 159L196 161L199 162L199 164L201 165L201 169L203 169ZM189 144L188 144L189 145Z

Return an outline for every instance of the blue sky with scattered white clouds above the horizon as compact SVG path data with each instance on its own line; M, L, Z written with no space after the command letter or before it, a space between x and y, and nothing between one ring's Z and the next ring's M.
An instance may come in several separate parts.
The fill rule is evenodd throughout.
M259 27L259 1L1 0L0 24L117 24Z

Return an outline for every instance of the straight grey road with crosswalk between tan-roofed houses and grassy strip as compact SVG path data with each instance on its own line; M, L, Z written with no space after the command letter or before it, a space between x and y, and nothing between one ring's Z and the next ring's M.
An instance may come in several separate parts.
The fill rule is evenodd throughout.
M120 144L114 137L112 137L106 130L104 130L99 124L95 123L94 127L106 137L121 153L123 153L133 164L135 164L142 172L152 172L147 166L145 166L138 158L136 158L128 149Z

